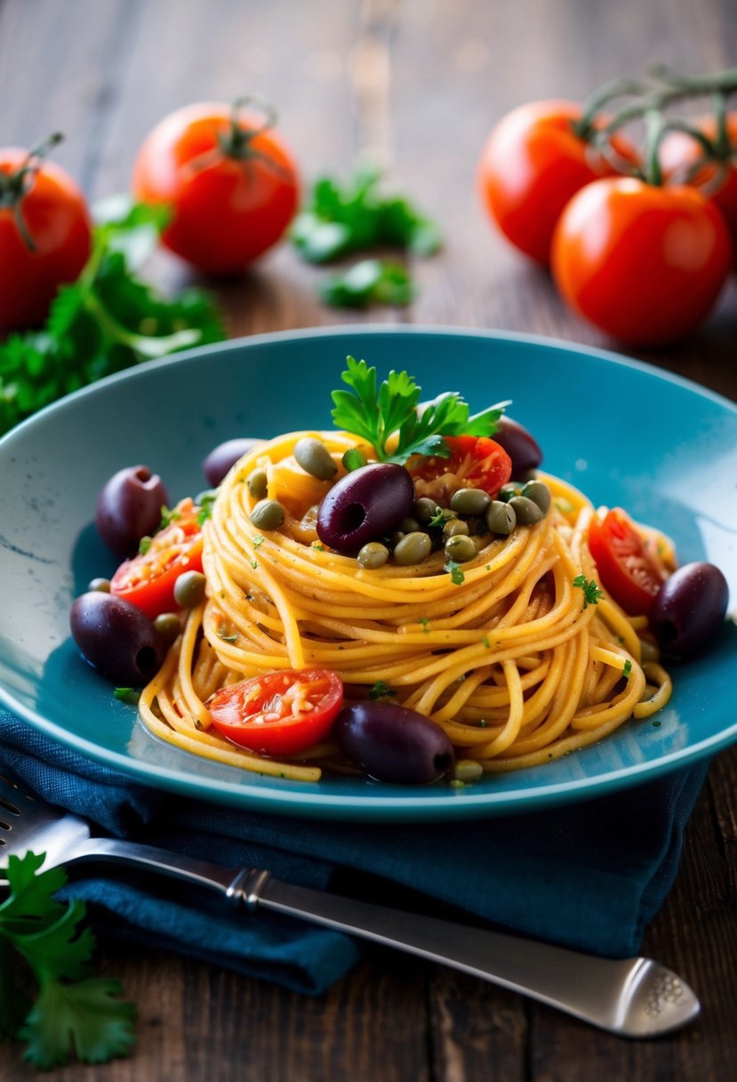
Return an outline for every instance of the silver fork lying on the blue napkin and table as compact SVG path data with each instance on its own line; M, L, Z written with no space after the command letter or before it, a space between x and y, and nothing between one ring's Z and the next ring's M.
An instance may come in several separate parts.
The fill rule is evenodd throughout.
M0 775L0 871L8 857L45 853L44 868L78 861L126 863L218 892L234 907L269 909L336 928L539 1000L624 1037L648 1038L692 1021L699 1002L652 959L594 958L452 921L295 886L256 868L231 869L148 845L92 837L78 816ZM6 880L0 880L0 884Z

